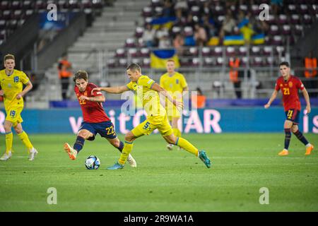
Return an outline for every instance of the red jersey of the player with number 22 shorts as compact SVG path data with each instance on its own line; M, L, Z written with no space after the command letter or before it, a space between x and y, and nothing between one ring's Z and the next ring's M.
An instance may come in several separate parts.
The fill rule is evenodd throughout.
M76 93L77 100L78 97L81 95L84 95L86 97L96 97L101 96L101 92L94 92L93 95L91 94L91 91L93 88L96 88L97 85L93 83L88 83L86 90L84 92L80 92L78 90L78 87L75 85L74 92ZM102 121L110 121L110 118L107 117L107 114L105 113L104 109L102 108L101 102L93 102L88 100L78 100L78 102L81 105L81 109L83 112L83 121L90 122L90 123L97 123Z

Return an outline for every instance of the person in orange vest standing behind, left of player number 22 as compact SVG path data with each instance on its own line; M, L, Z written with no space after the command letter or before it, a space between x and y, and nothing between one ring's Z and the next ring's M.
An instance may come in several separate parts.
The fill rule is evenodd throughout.
M61 80L61 95L62 99L67 99L67 91L69 90L69 77L72 76L72 65L68 61L68 57L66 54L63 54L61 61L59 61L59 65L57 66L59 69L59 79Z

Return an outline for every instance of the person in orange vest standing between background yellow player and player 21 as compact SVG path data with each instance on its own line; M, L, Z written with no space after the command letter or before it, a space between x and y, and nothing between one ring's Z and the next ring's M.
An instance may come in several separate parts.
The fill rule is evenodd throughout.
M238 57L235 57L235 54L232 54L232 57L230 57L229 66L230 66L230 81L233 83L235 95L237 99L240 99L242 97L241 81L239 78L239 70L238 70L238 68L240 67L240 59Z

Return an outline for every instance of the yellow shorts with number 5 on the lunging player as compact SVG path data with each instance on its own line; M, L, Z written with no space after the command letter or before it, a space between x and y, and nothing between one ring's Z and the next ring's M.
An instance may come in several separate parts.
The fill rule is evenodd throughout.
M151 134L155 129L158 129L158 131L161 133L162 136L170 136L173 131L169 124L169 121L167 120L167 115L164 117L161 116L154 116L149 117L145 121L143 121L141 124L136 126L131 133L134 134L134 136L139 137L143 135L149 135Z

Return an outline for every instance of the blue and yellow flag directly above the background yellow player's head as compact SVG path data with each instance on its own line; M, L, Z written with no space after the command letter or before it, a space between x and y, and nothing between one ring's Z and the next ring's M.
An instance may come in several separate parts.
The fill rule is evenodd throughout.
M168 59L175 61L175 67L179 68L179 57L175 49L159 49L151 52L151 68L153 69L165 69Z

